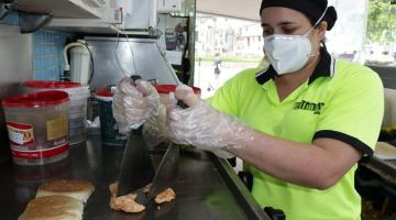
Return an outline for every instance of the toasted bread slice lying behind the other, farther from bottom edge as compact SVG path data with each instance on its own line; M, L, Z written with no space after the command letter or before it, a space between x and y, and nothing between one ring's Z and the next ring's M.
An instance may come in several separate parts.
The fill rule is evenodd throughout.
M87 202L95 190L94 185L87 180L57 179L41 185L36 198L51 195L63 195Z

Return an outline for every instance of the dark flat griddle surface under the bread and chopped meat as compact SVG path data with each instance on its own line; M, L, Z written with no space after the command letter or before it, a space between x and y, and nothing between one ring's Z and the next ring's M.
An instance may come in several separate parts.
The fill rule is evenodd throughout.
M87 179L96 190L89 198L84 219L270 219L257 206L226 160L183 150L179 177L174 187L176 200L161 206L148 205L140 215L109 209L109 184L117 180L123 147L102 146L99 136L73 146L63 162L23 167L6 164L0 167L0 217L16 219L37 187L50 179Z

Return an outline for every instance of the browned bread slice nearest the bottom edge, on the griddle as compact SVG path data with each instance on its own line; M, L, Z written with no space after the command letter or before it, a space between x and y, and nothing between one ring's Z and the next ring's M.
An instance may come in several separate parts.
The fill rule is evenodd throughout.
M67 196L45 196L31 200L18 220L81 220L84 205Z

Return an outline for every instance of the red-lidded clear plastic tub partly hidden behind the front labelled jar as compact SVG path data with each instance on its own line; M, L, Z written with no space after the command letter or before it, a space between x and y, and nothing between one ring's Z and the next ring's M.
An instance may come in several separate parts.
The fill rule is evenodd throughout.
M62 90L66 91L70 98L68 120L68 142L78 144L87 139L87 100L89 95L88 86L73 81L25 81L23 86L28 91L37 90Z

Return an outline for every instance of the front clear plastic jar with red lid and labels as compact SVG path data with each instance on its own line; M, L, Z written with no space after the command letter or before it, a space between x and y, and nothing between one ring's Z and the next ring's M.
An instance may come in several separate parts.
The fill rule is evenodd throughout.
M15 164L43 165L67 157L69 98L65 91L38 91L2 101Z

